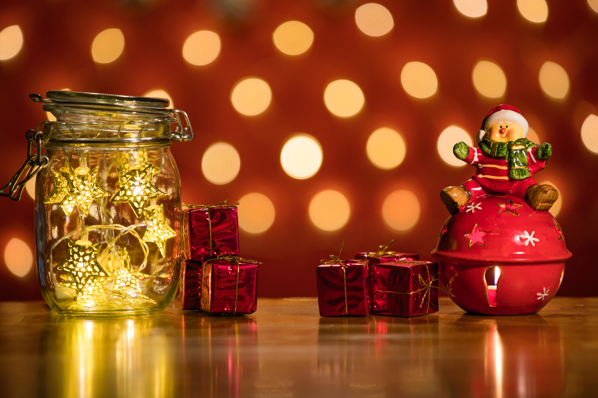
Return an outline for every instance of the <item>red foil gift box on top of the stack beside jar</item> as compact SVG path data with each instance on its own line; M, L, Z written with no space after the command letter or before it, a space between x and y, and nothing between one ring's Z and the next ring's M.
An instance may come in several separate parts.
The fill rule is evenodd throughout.
M238 255L239 224L236 206L193 208L189 215L189 257L202 260L207 255ZM210 221L212 242L210 251Z

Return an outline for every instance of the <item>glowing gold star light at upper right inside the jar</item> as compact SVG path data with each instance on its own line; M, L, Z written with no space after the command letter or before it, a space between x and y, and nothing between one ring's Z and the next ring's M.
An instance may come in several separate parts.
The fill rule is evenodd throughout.
M137 218L141 218L145 203L149 199L163 198L166 193L152 184L153 165L144 168L118 168L118 185L120 189L112 195L111 202L128 202Z

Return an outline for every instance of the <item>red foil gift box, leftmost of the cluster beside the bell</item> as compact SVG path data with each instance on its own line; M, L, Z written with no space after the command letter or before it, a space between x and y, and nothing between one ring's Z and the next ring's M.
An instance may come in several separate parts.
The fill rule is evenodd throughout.
M345 260L316 268L320 316L369 315L368 265ZM343 274L344 269L344 274Z

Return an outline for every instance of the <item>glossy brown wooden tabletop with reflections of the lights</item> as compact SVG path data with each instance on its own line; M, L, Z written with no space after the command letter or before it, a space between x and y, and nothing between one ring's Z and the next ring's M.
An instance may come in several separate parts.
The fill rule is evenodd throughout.
M321 318L315 298L249 316L75 319L0 303L0 396L598 396L598 298L473 316L441 298L410 319Z

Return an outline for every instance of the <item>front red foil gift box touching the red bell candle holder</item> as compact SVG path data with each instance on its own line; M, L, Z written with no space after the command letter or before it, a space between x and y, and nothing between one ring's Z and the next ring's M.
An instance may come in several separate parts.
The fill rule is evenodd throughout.
M438 311L438 263L374 263L370 279L374 314L410 317Z

